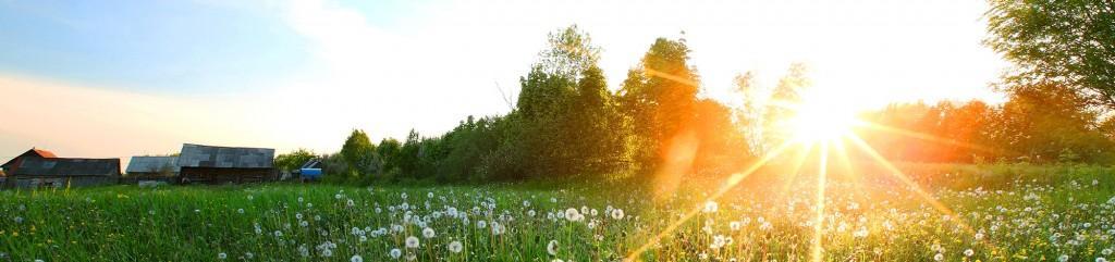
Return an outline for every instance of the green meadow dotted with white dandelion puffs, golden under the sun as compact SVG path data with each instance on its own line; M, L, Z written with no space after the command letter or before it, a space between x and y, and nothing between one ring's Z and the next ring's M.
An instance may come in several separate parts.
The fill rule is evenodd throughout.
M622 182L8 191L0 261L1115 259L1109 169L1001 168L919 175L927 195L832 177L823 202L809 176L745 181L716 201L701 186L656 195Z

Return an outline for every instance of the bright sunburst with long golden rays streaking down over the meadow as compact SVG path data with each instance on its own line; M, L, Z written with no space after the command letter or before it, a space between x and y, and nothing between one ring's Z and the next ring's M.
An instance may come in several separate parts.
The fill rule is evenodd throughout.
M815 171L813 172L813 175L815 175L815 191L813 192L814 203L812 207L814 216L811 222L812 236L808 246L808 259L809 261L824 261L826 244L824 242L826 231L824 222L828 212L826 206L827 194L840 193L826 191L831 178L831 174L828 172L831 167L830 158L832 157L832 154L835 154L840 172L843 173L845 178L853 181L852 184L855 188L864 188L863 185L861 185L863 183L862 174L854 173L856 171L855 166L882 166L886 171L886 177L891 177L900 182L900 184L904 186L908 192L915 195L919 201L932 206L937 213L947 217L952 217L949 221L956 223L956 226L959 229L969 233L975 233L972 227L963 222L963 217L958 216L952 208L947 206L940 200L934 197L932 193L905 175L899 167L886 159L860 135L857 135L854 128L866 127L873 130L898 134L932 143L958 145L978 148L981 151L993 151L993 148L959 143L948 138L935 137L932 135L857 119L854 117L852 111L846 110L846 108L840 108L840 105L834 103L818 103L816 100L814 100L814 103L772 100L770 105L789 111L789 114L785 115L786 119L778 119L778 123L770 123L766 127L768 128L767 133L774 134L774 137L777 137L780 134L783 137L786 137L786 139L777 143L773 149L768 151L743 172L728 177L715 193L709 194L708 197L705 197L705 201L699 203L715 203L727 192L737 187L744 178L750 176L760 168L769 166L772 162L788 164L783 165L787 168L779 171L784 172L780 174L780 177L784 179L783 183L785 183L780 192L787 194L794 193L791 190L793 181L797 179L798 176L802 175L801 173L803 171ZM787 154L788 152L794 153ZM853 158L853 154L866 157ZM786 158L787 156L788 158ZM806 167L808 159L816 159L816 166L813 168L803 168ZM681 174L675 175L680 176ZM644 244L629 253L624 261L639 261L639 258L644 252L649 251L663 237L669 236L673 233L673 231L678 230L679 226L699 214L701 212L701 207L702 206L700 205L695 206L670 223L669 226L658 231L658 233L651 236ZM993 243L985 241L983 244L992 250L996 249Z

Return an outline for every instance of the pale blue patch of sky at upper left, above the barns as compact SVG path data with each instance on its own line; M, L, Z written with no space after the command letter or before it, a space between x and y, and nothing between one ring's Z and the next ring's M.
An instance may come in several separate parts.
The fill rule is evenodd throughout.
M136 91L259 87L309 54L280 13L191 1L0 1L0 70Z

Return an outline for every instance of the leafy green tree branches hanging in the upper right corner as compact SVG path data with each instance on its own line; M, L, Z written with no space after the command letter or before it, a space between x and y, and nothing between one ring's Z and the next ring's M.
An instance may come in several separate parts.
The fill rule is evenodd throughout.
M1051 83L1115 109L1115 1L989 3L985 43L1017 66L1007 89Z

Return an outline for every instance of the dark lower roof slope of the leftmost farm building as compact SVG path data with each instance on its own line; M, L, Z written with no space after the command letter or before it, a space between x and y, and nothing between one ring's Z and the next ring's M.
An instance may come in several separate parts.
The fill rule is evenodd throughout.
M112 176L120 174L120 158L27 158L11 175Z

